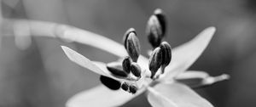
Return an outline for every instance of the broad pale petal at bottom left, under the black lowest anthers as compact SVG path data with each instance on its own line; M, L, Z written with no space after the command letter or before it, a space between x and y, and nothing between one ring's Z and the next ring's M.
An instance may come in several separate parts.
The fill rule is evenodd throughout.
M67 101L67 107L113 107L125 104L129 100L143 93L145 88L136 94L127 93L123 90L113 91L103 85L91 88L73 96Z

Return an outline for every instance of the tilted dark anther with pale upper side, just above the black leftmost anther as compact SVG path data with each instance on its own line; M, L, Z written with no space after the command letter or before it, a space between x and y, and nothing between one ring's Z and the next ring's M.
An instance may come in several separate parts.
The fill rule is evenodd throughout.
M122 65L117 62L112 62L107 64L107 69L114 75L114 76L122 76L126 77L128 74L123 70Z

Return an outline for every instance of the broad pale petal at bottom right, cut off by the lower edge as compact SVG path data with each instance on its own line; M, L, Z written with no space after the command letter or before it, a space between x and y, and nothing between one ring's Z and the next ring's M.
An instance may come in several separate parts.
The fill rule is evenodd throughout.
M206 99L201 98L197 93L189 87L179 84L163 84L160 83L154 87L155 91L160 93L160 98L173 102L177 107L213 107ZM154 93L148 93L148 99L156 99ZM152 103L152 102L151 102ZM160 103L160 102L155 102ZM161 104L155 104L161 105Z

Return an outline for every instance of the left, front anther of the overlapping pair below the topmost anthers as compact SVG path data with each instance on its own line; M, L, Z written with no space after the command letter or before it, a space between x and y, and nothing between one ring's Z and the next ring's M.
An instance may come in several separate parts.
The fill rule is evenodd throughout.
M149 70L151 71L151 78L154 77L156 71L160 68L162 65L162 51L161 49L154 48L153 53L149 57Z

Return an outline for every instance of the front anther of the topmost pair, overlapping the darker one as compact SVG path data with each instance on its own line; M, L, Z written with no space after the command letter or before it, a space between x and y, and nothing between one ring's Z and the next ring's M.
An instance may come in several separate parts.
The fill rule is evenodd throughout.
M148 37L148 42L150 42L153 48L160 45L163 35L161 29L160 21L156 15L151 15L146 26L146 36Z

